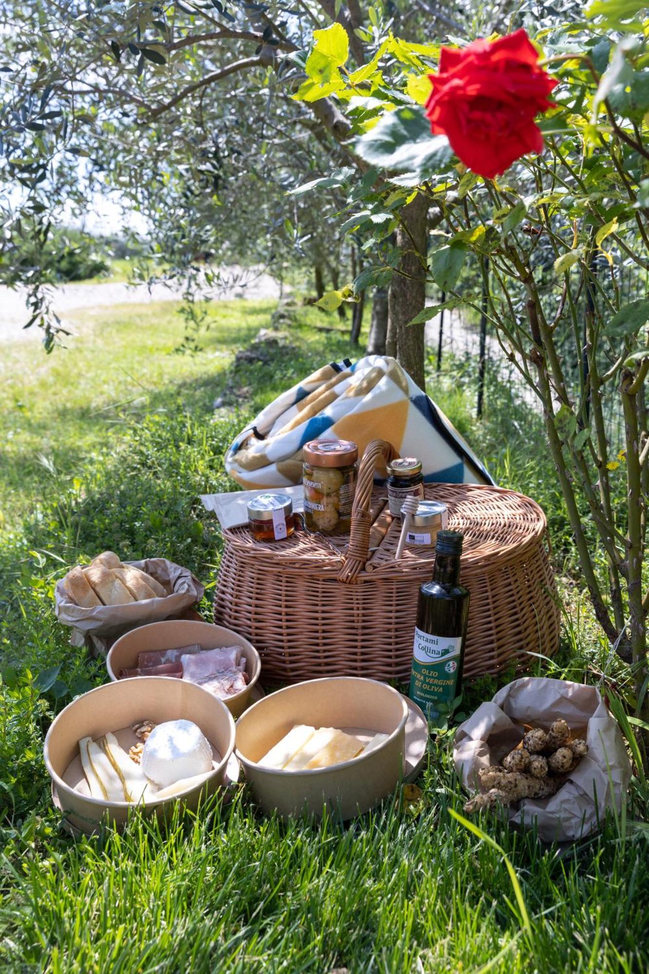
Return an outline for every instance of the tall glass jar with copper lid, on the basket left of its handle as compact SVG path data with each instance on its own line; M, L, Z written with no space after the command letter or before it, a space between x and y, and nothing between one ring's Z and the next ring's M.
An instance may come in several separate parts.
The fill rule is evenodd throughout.
M359 448L348 439L312 439L302 448L304 521L309 531L349 534Z

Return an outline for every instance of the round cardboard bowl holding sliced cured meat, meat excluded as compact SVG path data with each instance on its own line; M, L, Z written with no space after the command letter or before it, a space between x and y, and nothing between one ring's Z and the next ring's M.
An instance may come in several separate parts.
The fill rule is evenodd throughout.
M145 653L147 650L176 650L181 646L193 646L195 644L204 650L213 650L219 646L241 646L244 656L246 656L248 686L246 690L228 696L223 700L232 716L234 718L239 717L248 707L250 693L252 693L261 672L261 661L255 648L251 643L248 643L244 636L233 632L232 629L225 629L222 625L184 620L167 620L140 625L132 632L127 632L126 635L121 636L111 646L108 656L106 656L108 676L111 680L119 680L118 673L120 670L131 669L136 666L137 655ZM134 677L134 679L150 680L151 677ZM176 678L172 677L172 679Z

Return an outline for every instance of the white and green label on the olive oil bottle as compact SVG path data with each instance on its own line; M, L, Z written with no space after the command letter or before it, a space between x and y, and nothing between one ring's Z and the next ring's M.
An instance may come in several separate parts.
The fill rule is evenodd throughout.
M430 721L439 717L439 704L448 707L457 695L462 636L433 636L415 629L409 696Z

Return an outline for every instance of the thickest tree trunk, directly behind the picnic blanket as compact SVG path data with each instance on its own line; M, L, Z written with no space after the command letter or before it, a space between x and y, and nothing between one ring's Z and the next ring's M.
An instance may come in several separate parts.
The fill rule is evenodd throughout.
M427 218L428 200L421 193L401 209L397 230L401 262L388 292L388 355L394 355L391 349L396 346L399 363L420 389L425 388L425 325L408 327L408 321L426 305Z

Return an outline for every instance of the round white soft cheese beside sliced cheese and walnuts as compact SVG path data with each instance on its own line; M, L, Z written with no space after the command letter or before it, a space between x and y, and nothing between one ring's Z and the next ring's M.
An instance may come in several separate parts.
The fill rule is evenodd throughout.
M211 770L210 741L192 721L166 721L146 738L140 767L147 778L167 788L180 778Z

